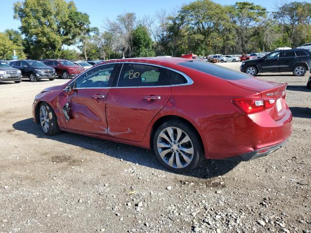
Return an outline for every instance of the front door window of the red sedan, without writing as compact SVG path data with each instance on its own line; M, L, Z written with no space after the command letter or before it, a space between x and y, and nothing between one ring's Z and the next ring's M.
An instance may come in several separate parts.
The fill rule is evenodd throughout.
M75 88L110 87L117 64L109 64L90 69L75 81Z

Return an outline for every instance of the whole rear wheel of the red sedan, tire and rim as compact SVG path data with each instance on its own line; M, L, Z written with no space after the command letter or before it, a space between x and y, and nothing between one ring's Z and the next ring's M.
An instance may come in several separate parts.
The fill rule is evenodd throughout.
M174 172L190 171L205 158L199 135L179 120L160 125L155 131L153 146L160 163Z

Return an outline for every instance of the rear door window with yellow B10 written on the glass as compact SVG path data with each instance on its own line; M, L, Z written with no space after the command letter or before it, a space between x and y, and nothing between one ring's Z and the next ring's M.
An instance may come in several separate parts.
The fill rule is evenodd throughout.
M169 85L165 68L140 64L123 64L118 87Z

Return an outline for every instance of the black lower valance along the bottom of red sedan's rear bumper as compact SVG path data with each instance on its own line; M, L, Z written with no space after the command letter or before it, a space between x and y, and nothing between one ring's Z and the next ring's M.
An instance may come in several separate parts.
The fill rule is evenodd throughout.
M284 146L284 144L288 141L288 139L286 139L285 141L283 141L280 144L277 144L275 146L272 147L267 147L267 148L262 148L260 150L254 150L245 154L241 154L241 155L237 155L237 156L232 156L232 157L228 157L225 158L225 160L230 160L230 161L250 161L253 159L258 159L260 157L264 157L267 156L268 154L273 153L274 151L280 149L282 146Z

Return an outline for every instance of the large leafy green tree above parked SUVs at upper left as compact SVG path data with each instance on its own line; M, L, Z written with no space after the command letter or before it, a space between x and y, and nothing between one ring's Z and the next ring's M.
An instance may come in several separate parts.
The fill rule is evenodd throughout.
M72 0L24 0L14 3L14 18L21 22L25 50L32 58L58 57L63 45L72 45L90 24Z

